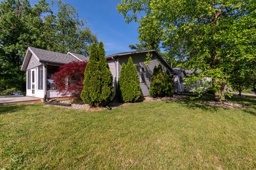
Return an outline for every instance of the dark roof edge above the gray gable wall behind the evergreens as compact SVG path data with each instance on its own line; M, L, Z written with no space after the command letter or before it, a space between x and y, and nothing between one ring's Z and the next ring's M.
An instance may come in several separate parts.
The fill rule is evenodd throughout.
M150 50L143 50L143 51L135 51L135 52L124 52L124 53L116 53L112 55L106 56L107 59L112 58L112 57L118 57L118 56L125 56L125 55L130 55L130 54L140 54L140 53L148 53L148 52L154 52L158 56L158 58L168 67L170 71L173 71L172 67L164 60L163 56L160 55L156 50L150 49Z

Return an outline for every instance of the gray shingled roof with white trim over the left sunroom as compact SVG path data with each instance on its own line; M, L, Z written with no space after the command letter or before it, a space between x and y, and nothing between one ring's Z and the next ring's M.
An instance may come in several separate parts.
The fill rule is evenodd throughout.
M75 53L58 53L35 47L28 47L27 54L23 60L21 70L27 69L31 55L34 55L40 63L67 64L70 62L87 61L86 56Z

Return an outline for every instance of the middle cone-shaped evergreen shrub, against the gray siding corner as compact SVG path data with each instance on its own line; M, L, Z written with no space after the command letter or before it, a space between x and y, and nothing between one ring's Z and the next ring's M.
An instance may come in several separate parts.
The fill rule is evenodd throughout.
M131 57L127 65L122 64L118 81L118 93L119 100L124 102L136 102L141 97L140 80Z

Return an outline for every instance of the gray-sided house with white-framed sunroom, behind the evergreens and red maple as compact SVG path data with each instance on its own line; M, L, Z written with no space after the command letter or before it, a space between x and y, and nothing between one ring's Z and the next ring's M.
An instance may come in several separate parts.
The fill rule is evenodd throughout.
M147 54L150 53L152 58L148 65L145 65ZM117 82L119 79L122 63L126 63L129 57L132 57L136 65L140 79L140 87L143 96L149 96L150 78L154 66L162 65L163 71L173 72L172 67L167 64L164 58L156 50L145 50L142 52L117 53L106 56L111 74L113 75L114 89L116 92ZM62 97L54 86L54 73L59 67L69 62L88 61L89 57L68 52L67 54L51 52L49 50L28 47L26 56L23 60L21 70L26 71L26 95L37 98Z

